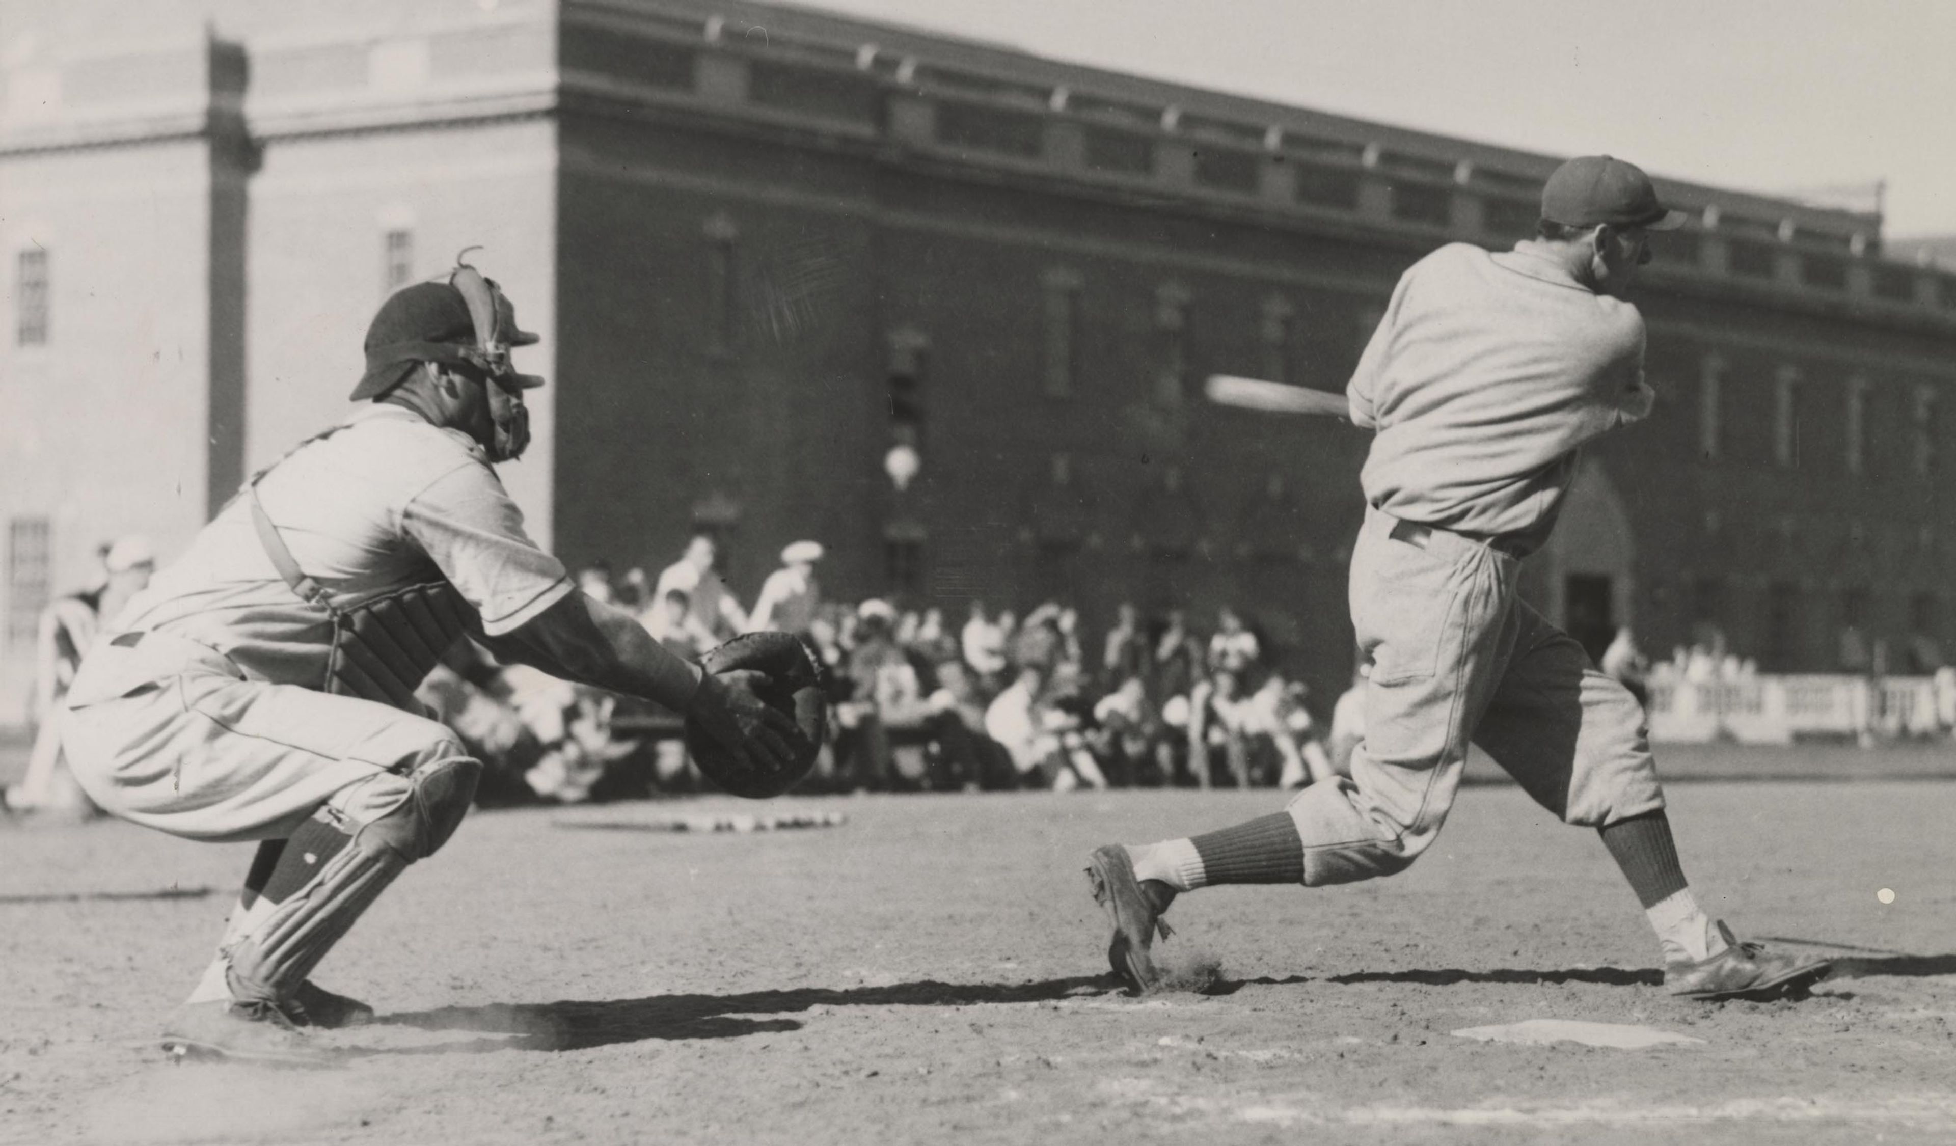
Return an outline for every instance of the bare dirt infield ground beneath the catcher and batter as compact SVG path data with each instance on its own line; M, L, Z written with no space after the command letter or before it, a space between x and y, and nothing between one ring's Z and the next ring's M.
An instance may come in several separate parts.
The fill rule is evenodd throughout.
M1103 976L1088 849L1277 796L782 800L847 823L567 831L732 800L471 817L321 970L385 1025L329 1072L170 1066L244 847L0 827L8 1142L1942 1142L1956 1136L1956 788L1688 784L1715 913L1854 945L1811 997L1696 1005L1592 833L1469 788L1377 884L1183 898L1219 995ZM213 894L200 896L200 888ZM1878 890L1895 892L1891 904ZM1647 1050L1449 1035L1649 1025Z

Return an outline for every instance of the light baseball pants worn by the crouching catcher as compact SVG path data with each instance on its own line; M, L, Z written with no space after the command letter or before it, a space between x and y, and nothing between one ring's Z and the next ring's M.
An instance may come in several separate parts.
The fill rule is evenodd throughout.
M248 681L223 653L158 632L90 653L63 741L106 812L201 841L286 839L321 806L352 831L413 794L417 765L469 755L422 716Z

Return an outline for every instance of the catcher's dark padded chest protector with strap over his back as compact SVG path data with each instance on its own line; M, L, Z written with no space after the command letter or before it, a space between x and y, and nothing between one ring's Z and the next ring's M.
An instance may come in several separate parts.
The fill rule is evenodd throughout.
M258 530L278 575L307 604L315 604L333 620L333 649L327 655L327 677L315 684L334 696L378 700L407 712L417 712L415 688L450 647L469 630L473 608L446 579L422 581L393 589L372 600L342 606L325 585L313 581L280 540L278 528L258 501L252 481L250 520Z

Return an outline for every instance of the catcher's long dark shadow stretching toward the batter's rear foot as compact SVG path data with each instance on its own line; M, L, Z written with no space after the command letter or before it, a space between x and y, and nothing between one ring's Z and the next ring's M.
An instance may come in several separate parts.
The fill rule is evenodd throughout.
M784 1013L812 1007L970 1007L984 1003L1045 1003L1080 995L1111 995L1119 988L1111 976L1074 976L1031 984L941 984L915 982L886 988L802 988L790 992L745 992L735 995L649 995L644 999L491 1003L485 1007L440 1007L378 1021L421 1031L471 1031L497 1035L469 1042L387 1048L372 1054L469 1054L487 1050L583 1050L612 1042L647 1038L739 1038L800 1031ZM741 1015L773 1015L745 1019Z

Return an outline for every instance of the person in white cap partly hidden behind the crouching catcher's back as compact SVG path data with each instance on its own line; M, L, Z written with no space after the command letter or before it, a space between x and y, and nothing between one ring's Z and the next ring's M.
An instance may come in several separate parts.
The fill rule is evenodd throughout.
M156 553L143 534L117 538L102 548L106 579L96 589L74 593L41 610L35 639L33 720L39 726L33 751L27 755L27 774L6 790L4 802L14 812L68 812L88 815L96 806L82 794L61 757L61 727L55 716L61 698L68 694L82 657L96 643L104 620L115 620L129 598L149 585L156 571Z

